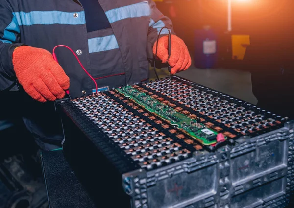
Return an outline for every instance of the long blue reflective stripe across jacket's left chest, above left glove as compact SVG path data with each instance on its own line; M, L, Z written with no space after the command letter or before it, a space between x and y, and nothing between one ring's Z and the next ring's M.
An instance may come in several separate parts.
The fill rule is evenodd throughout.
M73 14L77 13L78 17ZM32 11L15 12L18 25L30 26L33 24L85 24L85 12L61 12L61 11Z

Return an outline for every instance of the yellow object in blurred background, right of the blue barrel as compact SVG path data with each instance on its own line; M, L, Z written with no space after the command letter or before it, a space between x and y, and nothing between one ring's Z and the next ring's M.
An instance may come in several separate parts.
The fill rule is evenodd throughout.
M243 60L249 45L249 35L232 35L232 59Z

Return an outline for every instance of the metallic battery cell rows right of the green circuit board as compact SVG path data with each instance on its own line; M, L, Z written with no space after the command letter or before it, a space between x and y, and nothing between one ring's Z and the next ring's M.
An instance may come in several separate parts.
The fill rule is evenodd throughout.
M170 87L172 85L175 87ZM259 131L278 123L274 119L266 119L265 116L256 115L254 111L247 110L245 107L229 103L227 100L222 100L217 96L205 93L192 86L187 86L176 80L159 80L148 83L146 86L151 89L157 88L157 92L194 108L201 114L215 119L242 134ZM206 108L204 107L205 105Z

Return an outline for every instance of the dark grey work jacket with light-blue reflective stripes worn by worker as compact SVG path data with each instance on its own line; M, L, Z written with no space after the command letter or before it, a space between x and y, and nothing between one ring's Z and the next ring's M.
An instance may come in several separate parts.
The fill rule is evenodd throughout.
M152 0L98 1L111 28L87 33L85 13L78 0L0 0L0 119L11 119L13 114L22 116L37 137L51 137L43 135L44 128L54 135L53 123L46 122L54 117L48 113L53 106L33 101L17 84L12 65L12 53L17 46L28 45L50 52L57 45L71 47L97 79L98 88L111 89L148 79L152 46L162 27L172 30L171 21ZM70 77L70 95L81 97L82 91L92 93L95 84L73 54L66 48L57 48L56 55ZM44 128L40 127L42 124Z

